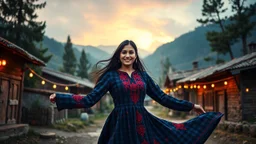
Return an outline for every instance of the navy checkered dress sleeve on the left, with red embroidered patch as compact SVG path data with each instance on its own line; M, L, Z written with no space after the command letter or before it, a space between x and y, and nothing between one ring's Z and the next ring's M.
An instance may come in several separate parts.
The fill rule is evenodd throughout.
M73 108L89 108L96 104L109 90L110 74L105 73L98 81L94 89L87 96L56 93L55 102L58 111Z

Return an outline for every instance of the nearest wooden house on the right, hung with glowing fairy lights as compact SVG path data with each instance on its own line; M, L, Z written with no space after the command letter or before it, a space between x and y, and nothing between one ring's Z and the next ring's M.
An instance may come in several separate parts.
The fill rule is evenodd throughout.
M256 52L209 67L177 81L179 87L196 95L206 111L225 114L223 120L256 120Z

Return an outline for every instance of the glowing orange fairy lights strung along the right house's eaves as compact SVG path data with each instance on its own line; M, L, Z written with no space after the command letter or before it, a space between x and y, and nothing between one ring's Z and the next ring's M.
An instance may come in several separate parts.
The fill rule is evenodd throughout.
M173 87L173 88L166 88L164 90L165 93L170 93L170 92L176 92L179 89L190 89L190 90L209 90L209 89L214 89L216 85L218 86L224 86L228 87L228 84L231 83L231 77L226 78L226 79L221 79L221 80L216 80L216 81L211 81L211 82L195 82L191 84L178 84L178 86ZM244 88L245 92L249 92L250 89L248 87Z

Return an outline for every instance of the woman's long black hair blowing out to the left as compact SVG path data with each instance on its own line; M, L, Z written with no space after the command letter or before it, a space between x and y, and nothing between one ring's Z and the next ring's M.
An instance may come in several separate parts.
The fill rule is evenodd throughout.
M134 48L135 54L136 54L136 59L133 63L133 68L137 71L145 71L145 66L139 58L138 48L137 48L136 44L131 40L125 40L117 47L116 51L114 52L114 54L111 58L106 59L106 60L101 60L96 63L96 68L97 68L99 63L108 62L108 64L105 67L103 67L102 69L100 69L96 72L93 72L93 74L94 74L93 77L95 79L97 79L96 82L98 82L99 78L102 75L104 75L106 72L111 71L111 70L118 70L121 67L122 64L120 62L120 53L123 50L123 48L129 44Z

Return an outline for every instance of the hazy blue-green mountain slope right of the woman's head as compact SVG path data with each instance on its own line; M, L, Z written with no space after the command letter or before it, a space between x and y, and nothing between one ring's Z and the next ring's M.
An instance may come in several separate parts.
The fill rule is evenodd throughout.
M256 17L252 19L256 21ZM192 62L198 61L199 67L208 67L214 65L214 62L206 62L204 58L208 55L217 57L216 53L210 50L209 42L206 40L206 32L211 30L218 30L218 26L208 25L195 28L194 31L185 33L176 38L173 42L163 44L150 56L144 59L144 63L153 76L159 77L161 73L161 59L169 57L170 62L177 70L192 69ZM256 31L252 32L252 36L248 38L247 42L256 40ZM232 51L235 57L242 56L241 41L232 45ZM220 58L229 61L229 55L219 56Z

